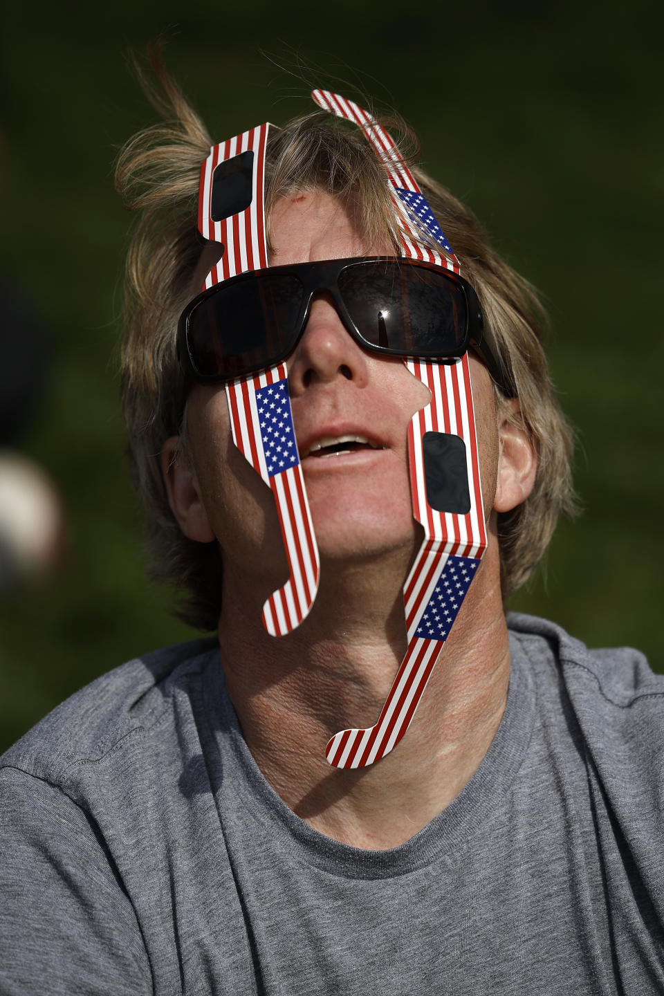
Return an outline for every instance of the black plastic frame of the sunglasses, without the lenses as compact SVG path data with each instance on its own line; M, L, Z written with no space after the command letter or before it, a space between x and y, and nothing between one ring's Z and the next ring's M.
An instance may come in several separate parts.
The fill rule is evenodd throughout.
M431 353L404 353L402 350L376 346L373 343L367 342L362 337L343 303L341 294L338 290L337 281L343 270L347 267L369 264L375 265L376 263L388 263L390 265L398 264L399 267L407 266L424 270L432 270L442 279L449 281L451 284L454 284L457 289L461 290L466 302L466 328L463 330L462 346L456 350L454 354L442 353L432 355ZM217 294L222 294L224 290L231 285L237 285L242 281L256 280L257 277L261 277L263 275L273 277L280 273L293 274L297 276L303 284L303 299L300 306L298 320L295 325L296 331L289 339L289 342L284 350L282 350L278 355L270 357L261 367L253 370L247 370L243 373L234 375L223 373L199 373L196 370L192 360L188 340L189 326L195 311L209 298L214 297ZM264 270L250 270L245 273L238 274L235 277L231 277L228 280L215 284L213 287L207 288L189 302L180 315L178 321L177 357L181 373L183 373L186 378L191 378L198 383L227 383L237 377L249 376L252 373L257 373L259 370L264 370L267 367L272 367L276 364L282 363L293 353L298 342L300 341L307 325L314 295L322 291L326 291L332 296L334 309L346 332L358 346L365 349L368 353L383 356L395 356L404 360L412 357L417 360L433 360L441 363L456 363L456 361L461 359L470 347L480 354L489 373L491 373L503 393L508 397L515 396L514 389L509 382L509 377L503 371L499 362L498 351L496 350L496 344L493 337L491 336L489 330L485 328L484 317L482 315L477 294L468 281L464 280L463 277L459 276L457 273L454 273L452 270L445 270L435 263L429 263L424 260L408 259L400 256L354 256L347 259L316 260L309 263L295 263L288 266L271 266Z

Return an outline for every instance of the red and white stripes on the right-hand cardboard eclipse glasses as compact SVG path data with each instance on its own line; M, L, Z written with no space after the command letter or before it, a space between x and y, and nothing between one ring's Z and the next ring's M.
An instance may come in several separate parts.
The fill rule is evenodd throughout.
M398 147L368 112L328 91L317 90L313 97L326 111L362 128L385 163L388 180L395 191L401 188L421 192ZM392 194L392 200L401 228L403 255L458 273L459 263L454 253L449 250L444 254L423 245L417 220L396 192ZM425 534L403 588L408 647L375 725L366 729L340 730L328 743L326 757L336 768L362 768L373 764L388 754L404 735L445 642L439 638L440 626L435 630L435 638L418 635L426 629L421 624L423 617L431 610L433 602L442 598L435 593L443 587L448 562L452 572L455 564L459 565L459 570L464 570L467 564L475 568L487 545L468 356L452 365L421 360L406 360L405 364L431 392L429 404L415 413L408 427L413 515L422 524ZM427 501L422 439L429 431L452 433L465 443L471 497L471 508L466 515L438 512ZM473 576L471 572L470 578ZM465 586L465 590L456 596L450 625L466 591Z

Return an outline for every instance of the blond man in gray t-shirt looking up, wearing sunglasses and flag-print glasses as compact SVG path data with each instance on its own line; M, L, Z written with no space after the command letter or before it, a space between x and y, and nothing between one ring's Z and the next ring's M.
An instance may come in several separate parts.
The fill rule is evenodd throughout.
M635 651L591 653L527 617L508 629L503 612L571 507L528 290L447 191L327 113L260 132L265 182L257 146L246 196L239 145L230 171L203 170L203 241L194 198L211 142L162 82L176 124L137 136L118 164L143 212L124 404L156 570L217 636L100 678L5 755L1 991L662 991L664 681ZM397 189L397 168L415 190ZM232 208L215 207L215 176ZM440 229L399 207L417 188ZM267 267L228 227L263 191ZM350 303L342 281L367 259ZM310 278L311 294L295 289ZM404 302L417 302L440 342L434 293L450 315L463 302L462 356L409 325ZM276 403L261 391L286 378L293 522L311 539L302 604L260 426L260 405ZM457 431L441 415L418 435L419 412L446 404ZM447 462L427 464L439 443ZM453 464L454 499L449 481L434 486ZM477 532L451 536L472 515ZM455 558L459 572L473 562L463 602L445 603L458 613L449 638L408 622L404 582L427 543L427 599ZM416 711L394 698L412 647ZM398 737L392 726L375 753L388 702Z

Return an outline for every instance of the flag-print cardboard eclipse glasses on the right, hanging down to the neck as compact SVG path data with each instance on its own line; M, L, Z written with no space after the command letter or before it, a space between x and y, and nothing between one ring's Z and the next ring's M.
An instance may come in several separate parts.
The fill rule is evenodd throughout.
M383 162L403 255L458 275L458 260L391 136L352 101L321 90L313 96L357 124ZM452 366L408 357L404 363L431 393L408 426L413 516L424 541L403 587L407 648L374 725L339 730L328 742L326 757L337 768L373 764L403 737L487 545L468 354ZM461 487L437 486L442 452Z

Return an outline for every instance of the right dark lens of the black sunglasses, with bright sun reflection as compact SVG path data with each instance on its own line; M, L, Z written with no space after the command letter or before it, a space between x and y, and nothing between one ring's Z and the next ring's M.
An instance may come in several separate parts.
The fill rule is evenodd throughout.
M359 263L342 270L338 289L368 346L432 358L461 356L466 349L466 298L444 270Z

